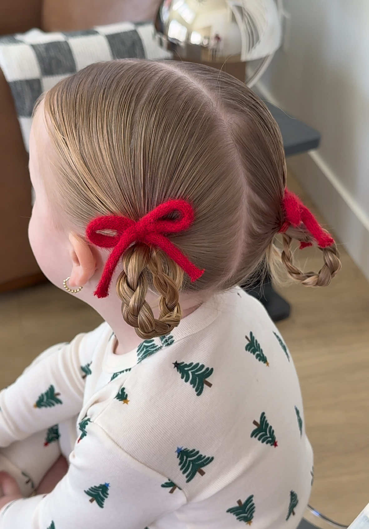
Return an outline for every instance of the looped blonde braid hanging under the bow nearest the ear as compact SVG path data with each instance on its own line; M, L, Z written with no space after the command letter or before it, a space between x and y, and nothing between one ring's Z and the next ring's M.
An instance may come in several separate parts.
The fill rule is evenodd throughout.
M122 300L124 321L135 327L140 338L149 339L163 336L173 331L181 321L182 311L179 305L178 288L182 284L183 273L173 263L167 268L176 272L173 279L164 271L163 259L159 252L145 245L129 248L123 256L123 271L116 282L116 291ZM149 288L149 273L152 285L160 294L160 315L156 319L146 301Z

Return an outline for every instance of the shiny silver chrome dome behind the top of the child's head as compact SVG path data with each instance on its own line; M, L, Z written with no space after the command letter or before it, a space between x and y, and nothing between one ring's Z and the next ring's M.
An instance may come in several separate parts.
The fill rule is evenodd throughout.
M219 69L232 63L229 69L251 86L280 45L278 4L279 0L163 0L155 22L157 37L174 59ZM256 63L246 79L250 61Z

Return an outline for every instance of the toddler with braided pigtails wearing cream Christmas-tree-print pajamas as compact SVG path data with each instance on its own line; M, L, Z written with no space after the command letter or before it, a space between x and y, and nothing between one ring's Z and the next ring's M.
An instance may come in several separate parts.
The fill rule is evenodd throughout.
M295 528L313 473L299 381L238 285L278 260L328 285L340 262L285 189L265 105L201 65L96 63L38 102L30 175L34 255L104 323L1 391L0 529ZM292 239L322 250L319 273Z

